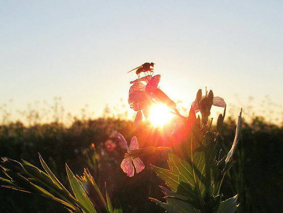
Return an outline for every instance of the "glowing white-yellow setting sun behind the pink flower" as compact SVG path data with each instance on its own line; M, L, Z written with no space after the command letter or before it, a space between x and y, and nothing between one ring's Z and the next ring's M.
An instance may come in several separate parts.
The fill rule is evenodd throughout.
M166 105L160 103L151 107L149 116L152 125L163 126L170 122L174 114L170 113L170 109Z

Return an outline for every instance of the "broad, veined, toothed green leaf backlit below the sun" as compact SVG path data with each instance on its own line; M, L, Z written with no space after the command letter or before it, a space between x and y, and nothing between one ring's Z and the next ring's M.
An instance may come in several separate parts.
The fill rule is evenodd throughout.
M176 155L169 155L169 168L152 166L174 193L185 196L188 202L198 203L205 197L206 188L212 183L211 165L207 162L204 152L195 151L189 163ZM200 192L200 196L198 194Z

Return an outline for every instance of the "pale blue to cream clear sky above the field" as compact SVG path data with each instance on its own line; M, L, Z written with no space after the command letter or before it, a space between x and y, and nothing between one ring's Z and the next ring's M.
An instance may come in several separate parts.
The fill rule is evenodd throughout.
M1 1L0 106L17 116L61 97L66 112L88 104L100 117L127 104L127 72L145 62L187 108L205 87L228 110L249 112L253 97L259 112L267 95L283 105L282 11L282 1Z

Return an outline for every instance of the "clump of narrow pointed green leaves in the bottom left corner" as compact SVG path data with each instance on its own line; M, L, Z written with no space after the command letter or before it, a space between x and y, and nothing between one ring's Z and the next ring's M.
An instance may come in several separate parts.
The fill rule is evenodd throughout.
M95 205L91 202L91 198L88 197L89 193L85 187L84 183L96 190L97 193L101 195L99 188L97 187L95 181L90 176L90 174L85 170L85 174L81 178L74 176L72 171L66 165L66 172L68 175L69 184L72 187L72 191L75 195L71 195L69 191L60 183L56 176L51 172L48 165L44 162L41 156L39 156L41 165L45 172L41 171L37 167L23 161L23 164L8 158L3 158L1 166L4 169L4 174L8 179L1 178L1 180L9 183L6 187L22 190L36 195L41 195L43 197L52 199L56 202L61 203L70 212L84 212L84 213L96 213ZM25 169L27 168L27 169ZM87 177L87 178L86 178ZM10 180L9 180L10 179ZM81 181L83 180L83 182ZM88 182L91 180L91 182ZM105 205L106 212L114 212L112 204L110 202L108 193L106 191L107 205ZM93 199L93 198L92 198ZM98 197L95 200L101 199L105 203L104 198ZM121 208L117 208L117 211L122 211Z

